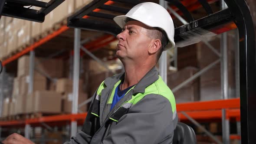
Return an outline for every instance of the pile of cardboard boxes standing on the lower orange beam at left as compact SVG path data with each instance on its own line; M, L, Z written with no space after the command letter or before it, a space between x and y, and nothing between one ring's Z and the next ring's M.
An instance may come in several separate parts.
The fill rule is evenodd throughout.
M51 100L47 97L47 95L56 95L56 97L53 97L52 99L56 98L56 101L58 101L58 98L60 95L59 93L55 91L46 91L46 77L43 76L41 73L34 71L34 77L33 77L33 92L30 95L28 93L28 87L29 87L29 69L30 69L30 58L29 56L22 56L20 59L18 59L18 71L17 71L17 77L14 79L13 82L13 101L15 101L15 110L14 115L16 114L24 114L27 111L29 112L47 112L47 109L45 109L43 106L35 105L35 107L30 108L29 110L26 108L26 105L29 105L31 103L36 103L38 101L43 101L43 98L46 98L48 101ZM50 63L50 65L49 65ZM59 78L62 77L62 61L58 59L39 59L35 58L35 67L40 70L40 72L45 73L46 75L49 75L52 78ZM46 96L44 96L46 95ZM27 99L30 99L33 97L32 100L28 102ZM59 103L61 100L59 100ZM43 103L43 105L46 103ZM57 105L56 105L57 106ZM50 107L49 107L50 108ZM61 106L59 106L59 109ZM53 112L59 113L59 109L55 109L53 107ZM33 110L33 111L32 111ZM49 112L49 111L48 111Z

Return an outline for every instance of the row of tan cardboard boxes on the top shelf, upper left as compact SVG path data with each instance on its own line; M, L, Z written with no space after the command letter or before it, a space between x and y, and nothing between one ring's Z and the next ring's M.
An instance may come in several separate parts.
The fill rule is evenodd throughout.
M39 0L49 2L49 0ZM30 40L53 29L53 25L67 18L75 10L85 6L92 0L65 0L53 11L48 13L43 23L31 22L2 16L0 20L0 58L16 52L20 46L26 46ZM40 10L39 7L31 9Z

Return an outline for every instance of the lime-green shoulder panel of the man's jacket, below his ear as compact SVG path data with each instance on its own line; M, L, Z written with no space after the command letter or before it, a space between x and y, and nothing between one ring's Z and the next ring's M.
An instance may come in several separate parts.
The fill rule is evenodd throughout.
M145 95L150 94L157 94L162 95L165 98L167 98L171 103L172 112L176 111L176 103L173 93L171 92L171 89L164 83L161 76L159 76L159 79L149 85L147 88L145 88L144 93L138 93L137 95L133 95L132 98L129 100L129 103L132 103L135 105L138 101L140 101L142 98L144 98Z

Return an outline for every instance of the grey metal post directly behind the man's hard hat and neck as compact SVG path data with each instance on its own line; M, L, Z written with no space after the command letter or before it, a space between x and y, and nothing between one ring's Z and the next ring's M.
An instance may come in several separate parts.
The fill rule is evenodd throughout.
M159 4L167 9L167 1L159 0ZM167 52L162 52L159 59L159 75L162 77L165 83L167 83Z

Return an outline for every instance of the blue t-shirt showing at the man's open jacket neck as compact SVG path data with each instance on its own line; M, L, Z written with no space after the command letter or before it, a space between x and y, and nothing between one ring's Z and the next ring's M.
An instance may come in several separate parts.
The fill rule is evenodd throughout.
M112 108L114 108L115 104L118 101L120 101L121 98L123 98L125 96L126 92L128 92L128 90L131 89L134 86L134 85L132 85L132 86L130 86L128 88L125 88L124 90L121 91L121 89L119 88L121 83L115 88L115 95L113 97L113 101L112 101L112 105L111 105L110 111L112 110Z

